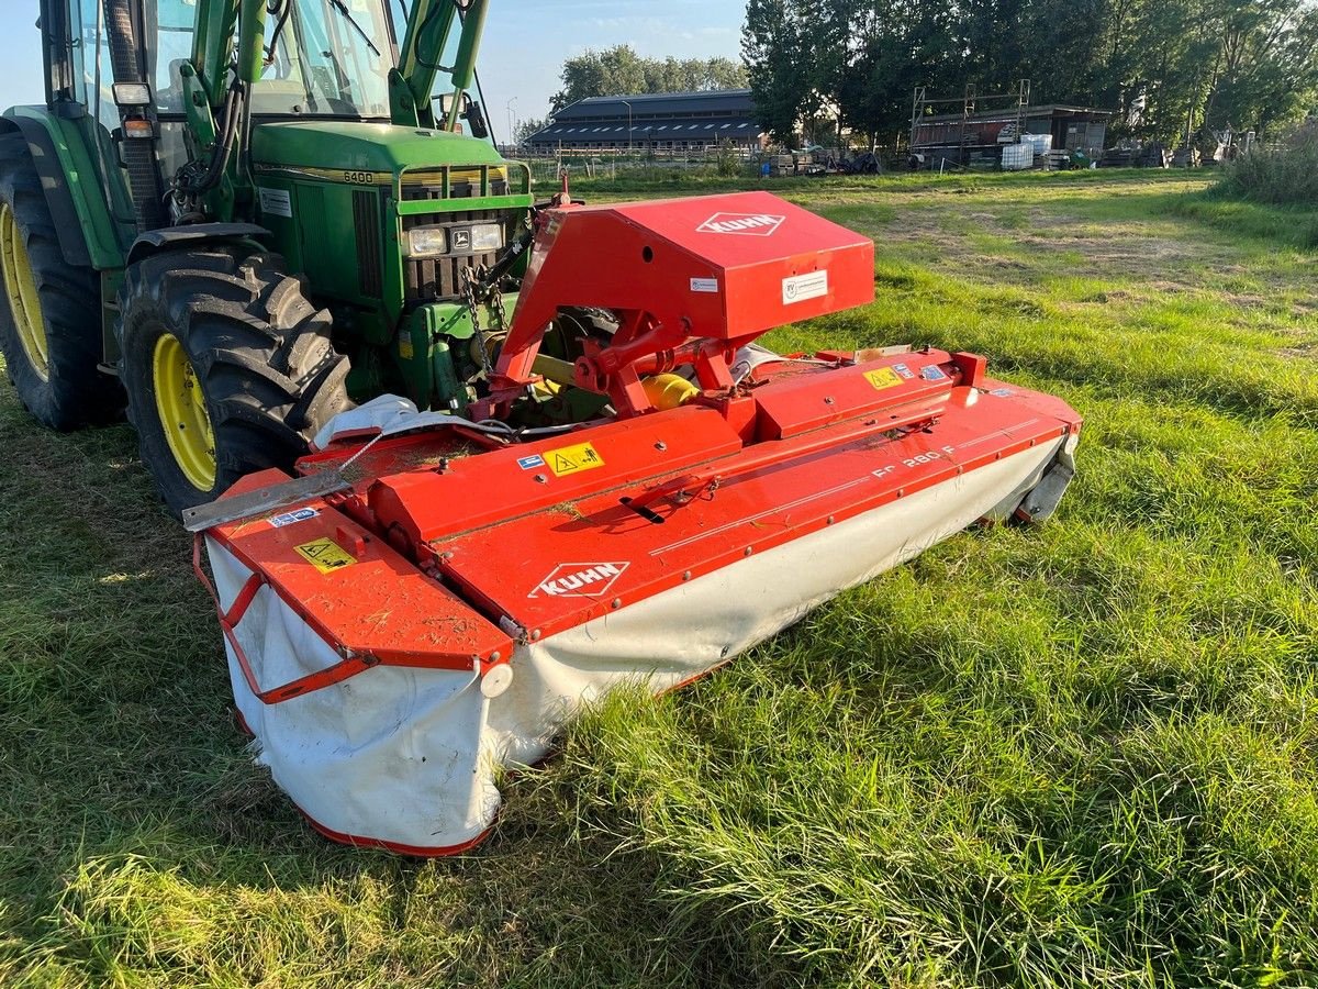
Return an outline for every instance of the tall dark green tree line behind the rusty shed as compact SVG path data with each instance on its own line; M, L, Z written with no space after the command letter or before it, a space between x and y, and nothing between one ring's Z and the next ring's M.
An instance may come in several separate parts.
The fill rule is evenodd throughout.
M960 98L1020 79L1036 104L1114 109L1118 136L1169 144L1318 111L1315 0L750 0L742 54L782 141L836 116L891 144L917 86Z

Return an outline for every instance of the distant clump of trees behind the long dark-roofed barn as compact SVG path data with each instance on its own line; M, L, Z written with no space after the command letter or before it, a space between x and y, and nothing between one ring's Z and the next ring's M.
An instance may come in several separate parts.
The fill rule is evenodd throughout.
M729 58L643 58L630 45L569 58L563 63L560 78L563 88L551 102L554 112L592 96L701 92L746 84L745 69Z

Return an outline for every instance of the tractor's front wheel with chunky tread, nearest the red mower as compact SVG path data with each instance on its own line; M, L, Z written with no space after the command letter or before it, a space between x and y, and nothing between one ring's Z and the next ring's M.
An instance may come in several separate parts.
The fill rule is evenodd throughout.
M128 418L175 516L244 475L291 469L326 422L352 407L332 318L277 255L156 255L129 266L119 306Z

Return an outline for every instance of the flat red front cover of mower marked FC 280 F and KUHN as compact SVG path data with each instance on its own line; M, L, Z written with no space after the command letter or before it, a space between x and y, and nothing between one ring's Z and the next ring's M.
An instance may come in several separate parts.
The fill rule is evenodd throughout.
M962 472L1058 443L1078 429L1078 417L1049 402L1054 407L1045 411L957 388L934 427L902 439L888 439L878 422L853 419L718 458L697 475L702 480L689 498L647 502L659 520L622 502L646 498L647 481L638 479L630 489L580 497L432 547L465 596L550 636ZM493 467L482 462L473 471ZM502 479L492 471L484 487L497 489Z

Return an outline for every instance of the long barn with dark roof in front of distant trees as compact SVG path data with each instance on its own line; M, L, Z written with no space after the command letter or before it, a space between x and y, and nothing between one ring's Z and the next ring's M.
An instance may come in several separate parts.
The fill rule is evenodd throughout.
M583 149L691 150L731 141L758 150L767 141L750 90L592 96L564 107L526 140L532 152Z

